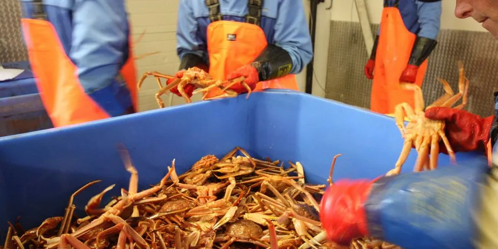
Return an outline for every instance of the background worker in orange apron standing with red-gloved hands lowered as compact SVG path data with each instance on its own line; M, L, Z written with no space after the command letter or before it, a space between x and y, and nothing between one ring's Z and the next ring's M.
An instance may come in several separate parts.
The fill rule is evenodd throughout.
M414 107L413 91L400 82L422 86L427 57L437 44L441 26L441 2L431 0L384 0L382 19L365 66L373 79L370 109L393 114L402 102Z

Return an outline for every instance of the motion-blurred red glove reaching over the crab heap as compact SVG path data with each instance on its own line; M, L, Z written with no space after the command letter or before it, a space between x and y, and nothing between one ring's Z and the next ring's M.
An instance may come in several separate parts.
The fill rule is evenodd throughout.
M328 188L320 202L320 221L327 239L348 244L368 235L364 203L372 180L339 180Z

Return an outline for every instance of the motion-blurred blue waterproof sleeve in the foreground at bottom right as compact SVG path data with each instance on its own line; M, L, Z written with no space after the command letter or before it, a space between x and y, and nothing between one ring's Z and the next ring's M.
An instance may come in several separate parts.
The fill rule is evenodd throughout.
M371 236L405 249L471 249L486 159L384 177L365 203Z

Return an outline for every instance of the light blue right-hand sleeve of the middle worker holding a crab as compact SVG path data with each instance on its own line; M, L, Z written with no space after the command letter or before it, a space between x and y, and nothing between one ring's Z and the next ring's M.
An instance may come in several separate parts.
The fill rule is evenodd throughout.
M301 0L284 0L278 7L275 22L275 45L292 58L292 74L300 73L313 57L304 8Z

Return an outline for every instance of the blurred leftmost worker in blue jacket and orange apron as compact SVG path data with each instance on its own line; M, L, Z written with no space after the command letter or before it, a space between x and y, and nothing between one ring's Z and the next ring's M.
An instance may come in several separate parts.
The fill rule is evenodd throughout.
M22 0L29 62L54 127L136 111L123 0Z

